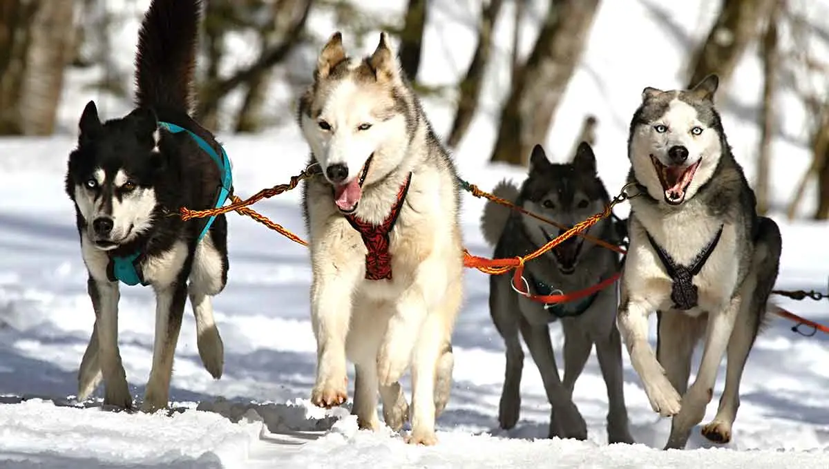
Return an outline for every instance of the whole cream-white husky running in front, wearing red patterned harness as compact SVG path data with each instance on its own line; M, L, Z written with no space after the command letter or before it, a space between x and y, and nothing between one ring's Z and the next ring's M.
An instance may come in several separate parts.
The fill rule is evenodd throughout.
M434 444L447 403L450 339L461 304L463 246L453 162L420 107L388 36L371 56L347 56L334 33L298 123L322 175L303 186L313 269L317 380L311 399L347 399L361 428L399 430L409 413L400 377L412 370L408 442Z

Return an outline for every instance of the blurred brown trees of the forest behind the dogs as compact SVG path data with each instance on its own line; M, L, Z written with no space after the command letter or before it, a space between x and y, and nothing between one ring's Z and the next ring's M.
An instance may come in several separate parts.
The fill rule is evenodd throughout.
M0 0L0 135L58 132L57 114L69 73L104 70L86 83L90 97L107 95L128 103L134 52L131 49L129 60L124 60L126 51L112 38L124 22L140 18L147 2L120 1L127 7L114 8L116 2L109 0ZM532 145L543 142L555 125L555 109L579 64L598 8L603 1L630 0L482 0L473 27L477 44L464 65L466 72L457 83L441 87L419 83L424 25L436 6L429 0L403 1L402 12L389 17L366 11L356 0L205 0L196 118L225 133L261 133L292 120L295 96L310 80L316 54L331 32L313 31L310 13L325 12L346 36L385 29L396 37L405 73L419 94L453 106L453 122L442 136L451 149L467 136L473 116L480 112L494 25L514 22L509 91L500 104L490 160L525 165ZM802 99L810 118L804 132L812 148L812 164L799 181L791 181L785 210L793 217L804 188L817 183L812 217L829 219L829 60L810 52L808 46L815 36L829 40L829 31L813 26L792 0L710 2L718 13L708 34L686 57L686 85L712 72L720 75L721 83L728 83L739 61L749 51L758 53L763 92L755 117L761 137L753 155L752 182L759 210L768 210L769 162L785 157L771 154L769 142L781 118L778 93L789 89ZM810 3L817 2L805 4ZM521 19L528 17L540 27L529 53L521 54L517 47ZM250 56L234 60L230 41L245 41ZM804 71L822 79L802 80ZM266 99L272 95L283 97L278 105ZM599 125L588 116L576 140L594 142Z

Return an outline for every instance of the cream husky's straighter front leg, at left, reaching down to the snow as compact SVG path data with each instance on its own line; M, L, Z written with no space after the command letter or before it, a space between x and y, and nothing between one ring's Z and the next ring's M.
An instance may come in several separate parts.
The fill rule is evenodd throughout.
M348 398L346 338L356 276L346 273L315 273L311 284L311 322L317 339L317 382L311 402L319 407L334 407Z

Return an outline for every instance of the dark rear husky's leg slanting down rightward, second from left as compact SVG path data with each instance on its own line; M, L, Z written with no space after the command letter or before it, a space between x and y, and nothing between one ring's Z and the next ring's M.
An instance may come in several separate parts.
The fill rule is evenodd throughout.
M555 365L555 355L550 342L550 327L531 325L521 320L521 335L530 349L532 360L536 362L544 382L547 400L550 401L550 438L587 439L587 424L579 409L570 398L570 391L559 378L559 369Z

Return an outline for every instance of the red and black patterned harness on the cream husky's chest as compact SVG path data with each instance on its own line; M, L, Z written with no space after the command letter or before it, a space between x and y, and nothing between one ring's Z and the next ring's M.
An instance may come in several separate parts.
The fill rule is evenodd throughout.
M366 253L366 280L382 280L384 278L391 280L389 234L395 227L397 215L400 215L400 209L403 207L406 192L409 191L411 179L412 174L409 173L403 186L400 186L400 191L397 192L395 205L391 207L389 216L385 217L381 225L371 225L360 220L354 214L346 215L346 220L360 233L363 244L366 244L366 249L368 249Z

